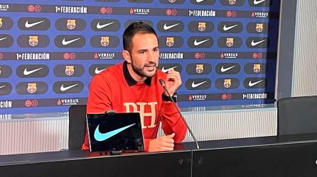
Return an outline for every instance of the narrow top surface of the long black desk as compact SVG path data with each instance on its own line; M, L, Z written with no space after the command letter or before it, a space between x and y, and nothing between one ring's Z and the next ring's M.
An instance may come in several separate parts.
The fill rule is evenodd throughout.
M149 154L160 153L177 153L177 152L190 152L190 151L204 151L210 149L227 149L236 147L256 147L268 146L276 144L296 144L306 142L317 142L317 133L303 134L303 135L283 135L272 137L252 137L243 139L225 139L198 142L200 149L195 148L194 142L184 142L176 144L175 150L172 152L136 152L121 155L107 155L97 152L88 151L60 151L60 152L42 152L33 154L12 154L0 156L0 166L13 165L13 164L32 164L43 161L66 161L73 159L91 159L91 158L115 158L117 156L144 156Z

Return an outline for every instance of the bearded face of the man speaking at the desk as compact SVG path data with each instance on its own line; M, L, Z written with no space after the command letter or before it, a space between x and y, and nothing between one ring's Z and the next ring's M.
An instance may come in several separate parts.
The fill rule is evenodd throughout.
M136 81L154 76L159 66L159 42L156 35L136 33L131 43L131 76Z

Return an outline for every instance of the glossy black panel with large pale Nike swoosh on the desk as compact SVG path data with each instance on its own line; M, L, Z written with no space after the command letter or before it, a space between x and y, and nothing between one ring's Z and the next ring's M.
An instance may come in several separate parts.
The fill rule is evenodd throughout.
M142 152L139 113L87 114L90 152Z

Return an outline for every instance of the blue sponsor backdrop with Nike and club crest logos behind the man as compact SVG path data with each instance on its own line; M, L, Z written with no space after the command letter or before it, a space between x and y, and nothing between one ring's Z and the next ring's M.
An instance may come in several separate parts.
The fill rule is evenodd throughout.
M274 102L280 1L57 0L0 4L1 113L85 104L122 62L132 21L157 32L159 68L181 72L181 107Z

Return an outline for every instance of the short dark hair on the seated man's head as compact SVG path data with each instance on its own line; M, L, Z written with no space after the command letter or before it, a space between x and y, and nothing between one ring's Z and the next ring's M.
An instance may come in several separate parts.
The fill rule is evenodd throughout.
M131 23L123 33L123 49L131 52L132 38L136 33L141 34L154 34L157 38L155 30L148 24L142 21L135 21Z

